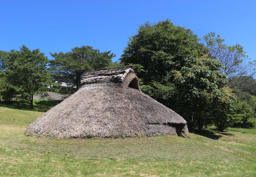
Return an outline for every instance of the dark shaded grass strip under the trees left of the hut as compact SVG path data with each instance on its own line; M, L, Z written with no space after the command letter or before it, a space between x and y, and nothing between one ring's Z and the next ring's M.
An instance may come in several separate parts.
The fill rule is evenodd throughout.
M0 107L8 107L12 109L28 110L46 112L55 105L58 105L63 100L34 100L34 108L30 108L30 101L17 100L17 101L0 101Z

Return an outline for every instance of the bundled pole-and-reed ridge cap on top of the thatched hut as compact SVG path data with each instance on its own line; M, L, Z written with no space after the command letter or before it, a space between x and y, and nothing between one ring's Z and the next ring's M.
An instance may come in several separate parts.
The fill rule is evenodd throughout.
M100 70L87 72L82 76L81 84L112 81L123 82L128 73L134 73L132 65L116 68L103 68Z

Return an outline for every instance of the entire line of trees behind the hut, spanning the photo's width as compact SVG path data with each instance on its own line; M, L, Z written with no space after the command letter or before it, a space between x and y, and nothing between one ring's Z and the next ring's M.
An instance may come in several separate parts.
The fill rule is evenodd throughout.
M80 87L85 72L106 67L134 65L141 90L187 120L189 130L215 125L251 128L256 117L255 61L243 46L228 46L213 32L202 40L191 30L170 20L139 26L129 38L119 62L111 51L80 46L69 52L50 53L25 45L0 51L0 98L15 95L28 100L46 92L54 81ZM50 90L56 91L56 90Z

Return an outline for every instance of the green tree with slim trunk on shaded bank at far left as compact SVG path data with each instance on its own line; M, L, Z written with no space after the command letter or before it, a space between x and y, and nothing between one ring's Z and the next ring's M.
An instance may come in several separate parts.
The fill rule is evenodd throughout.
M48 59L44 53L39 49L30 50L25 45L22 45L19 51L11 50L7 56L7 81L19 89L21 98L30 101L31 108L34 94L50 81L47 63Z

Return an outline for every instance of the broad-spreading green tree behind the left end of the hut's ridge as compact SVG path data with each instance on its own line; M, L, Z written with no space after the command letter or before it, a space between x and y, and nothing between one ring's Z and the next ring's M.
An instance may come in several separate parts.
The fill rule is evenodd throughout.
M70 52L50 53L54 60L50 61L50 70L56 78L71 82L80 87L81 77L84 72L97 70L112 64L115 57L111 51L100 52L91 46L75 47Z

